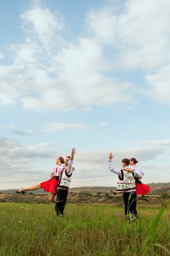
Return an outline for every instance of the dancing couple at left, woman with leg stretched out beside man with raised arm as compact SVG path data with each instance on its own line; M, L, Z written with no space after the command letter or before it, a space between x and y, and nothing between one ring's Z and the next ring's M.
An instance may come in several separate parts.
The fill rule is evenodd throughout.
M53 172L50 174L50 179L44 182L41 182L38 185L30 186L26 189L19 189L16 193L24 194L26 191L34 191L36 189L44 189L50 193L49 201L56 202L55 211L58 215L63 216L64 207L66 204L66 199L68 195L68 188L71 183L71 176L75 168L73 167L74 155L76 151L75 148L71 150L71 157L67 156L65 161L63 157L58 157L55 161L57 167L53 169ZM57 198L55 200L55 195Z

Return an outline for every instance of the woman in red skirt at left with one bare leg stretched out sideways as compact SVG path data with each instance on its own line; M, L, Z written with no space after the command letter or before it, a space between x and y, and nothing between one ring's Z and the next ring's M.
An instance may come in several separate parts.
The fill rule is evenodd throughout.
M55 194L57 193L57 187L59 182L59 177L64 168L66 167L64 164L64 158L58 157L55 161L55 164L57 164L57 167L53 169L53 172L50 175L50 180L46 180L44 182L41 182L38 185L30 186L26 189L20 189L16 191L16 193L22 193L24 194L26 191L34 191L36 189L44 189L44 191L47 191L50 193L49 201L53 202Z

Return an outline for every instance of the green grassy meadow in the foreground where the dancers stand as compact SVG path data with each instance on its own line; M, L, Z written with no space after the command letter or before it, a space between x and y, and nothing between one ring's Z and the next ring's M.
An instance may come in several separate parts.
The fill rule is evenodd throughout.
M137 206L139 219L126 222L124 207L0 202L0 256L167 256L170 211Z

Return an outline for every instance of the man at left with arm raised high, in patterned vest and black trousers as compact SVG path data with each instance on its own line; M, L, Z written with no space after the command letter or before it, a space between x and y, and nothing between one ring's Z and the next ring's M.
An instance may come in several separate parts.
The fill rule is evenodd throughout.
M66 168L62 171L60 175L60 180L58 183L58 191L56 195L56 202L55 202L55 211L57 216L61 215L64 216L64 208L66 205L67 195L68 195L68 188L71 184L71 176L74 171L74 167L72 166L74 163L74 155L75 155L75 148L72 148L71 157L67 156L65 159L64 164Z

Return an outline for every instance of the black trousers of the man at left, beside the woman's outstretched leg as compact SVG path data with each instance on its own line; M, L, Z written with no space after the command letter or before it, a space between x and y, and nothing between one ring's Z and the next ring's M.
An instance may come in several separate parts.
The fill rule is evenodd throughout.
M64 216L64 207L66 205L67 195L68 189L58 189L56 198L57 202L55 203L55 211L57 213L57 216Z

